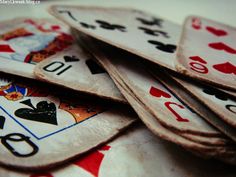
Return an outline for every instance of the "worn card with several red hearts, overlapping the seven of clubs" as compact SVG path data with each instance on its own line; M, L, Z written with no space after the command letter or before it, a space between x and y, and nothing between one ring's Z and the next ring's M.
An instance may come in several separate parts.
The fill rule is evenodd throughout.
M235 91L235 34L233 27L201 17L188 17L177 51L177 70Z

